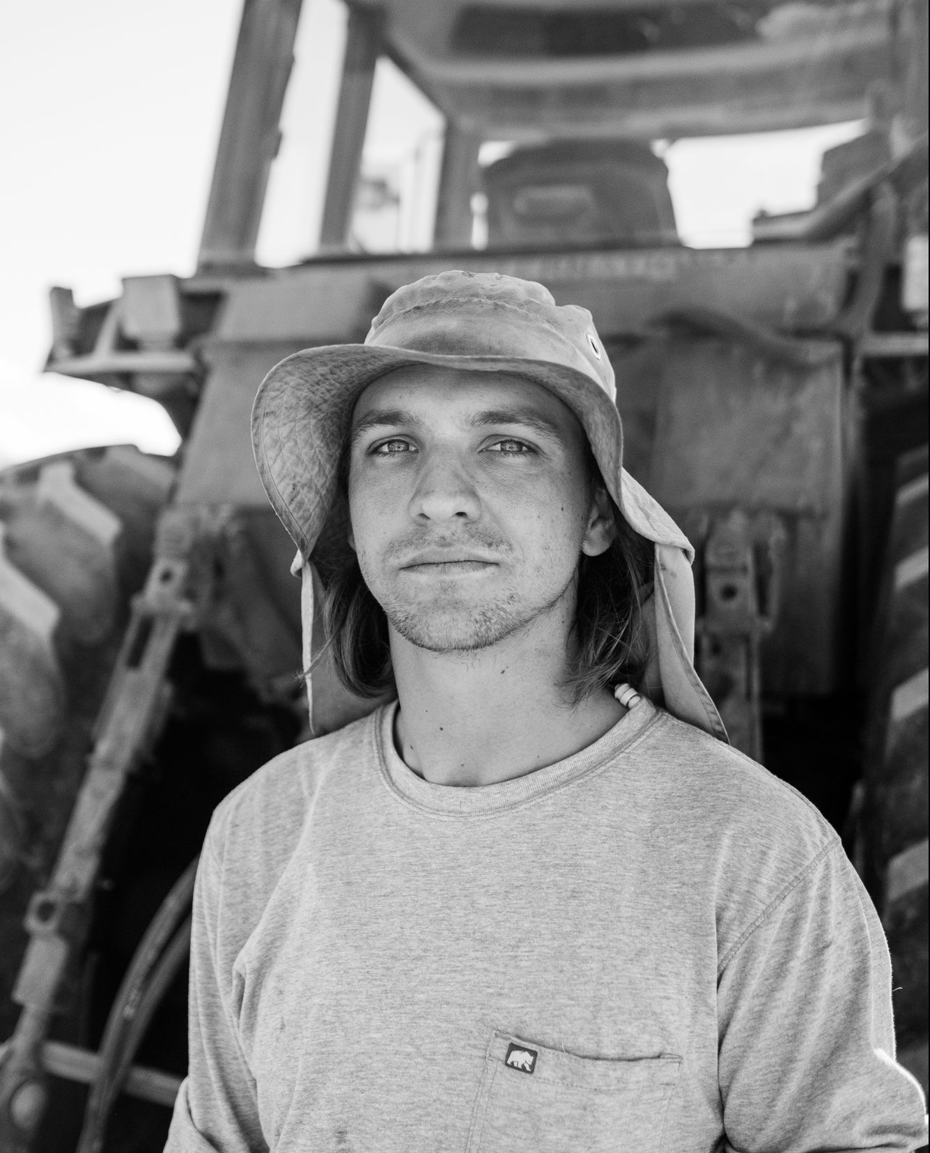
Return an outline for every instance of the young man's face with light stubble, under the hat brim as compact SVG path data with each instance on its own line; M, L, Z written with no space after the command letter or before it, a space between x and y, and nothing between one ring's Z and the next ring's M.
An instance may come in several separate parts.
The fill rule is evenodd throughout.
M349 461L362 575L419 648L494 645L566 598L570 620L580 553L611 541L581 425L519 376L415 366L381 377L355 407Z

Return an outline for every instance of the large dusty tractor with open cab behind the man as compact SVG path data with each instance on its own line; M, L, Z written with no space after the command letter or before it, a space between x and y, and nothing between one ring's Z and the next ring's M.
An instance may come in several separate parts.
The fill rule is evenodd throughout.
M160 1150L210 812L340 716L325 688L303 709L252 397L282 356L363 339L394 288L453 266L593 314L627 467L697 550L705 683L734 743L842 832L927 1088L927 5L350 0L323 255L270 270L255 246L300 6L244 2L196 273L83 309L53 291L48 367L159 399L179 459L0 474L0 1148ZM429 253L347 250L381 56L447 121ZM679 242L644 142L878 104L811 211L758 219L743 249ZM492 140L516 148L483 172Z

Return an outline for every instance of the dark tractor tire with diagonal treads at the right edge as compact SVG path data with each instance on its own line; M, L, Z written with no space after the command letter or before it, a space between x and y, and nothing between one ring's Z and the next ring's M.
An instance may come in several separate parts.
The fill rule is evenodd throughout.
M899 459L872 645L863 873L889 940L898 1060L928 1092L928 452Z

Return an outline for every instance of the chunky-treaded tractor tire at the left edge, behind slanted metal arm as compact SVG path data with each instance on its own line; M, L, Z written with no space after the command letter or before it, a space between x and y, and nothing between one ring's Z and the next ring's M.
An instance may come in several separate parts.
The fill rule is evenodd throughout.
M133 446L0 472L0 1042L174 474Z

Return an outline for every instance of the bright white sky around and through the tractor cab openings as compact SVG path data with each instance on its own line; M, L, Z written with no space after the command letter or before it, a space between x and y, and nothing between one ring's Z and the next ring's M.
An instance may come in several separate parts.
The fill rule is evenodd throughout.
M0 467L91 444L172 452L160 406L41 375L47 292L80 304L128 274L194 270L240 0L36 0L0 16ZM259 259L312 250L345 38L339 0L304 0L285 141ZM376 81L366 156L403 180L436 159L441 123L391 66ZM812 203L819 156L854 125L681 141L666 152L685 240L746 243L759 208ZM418 151L417 151L418 150Z

